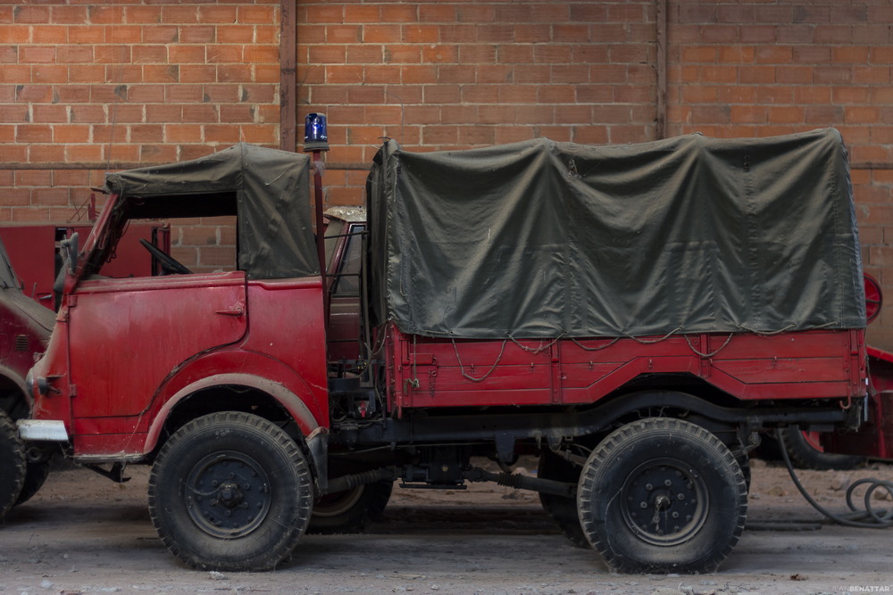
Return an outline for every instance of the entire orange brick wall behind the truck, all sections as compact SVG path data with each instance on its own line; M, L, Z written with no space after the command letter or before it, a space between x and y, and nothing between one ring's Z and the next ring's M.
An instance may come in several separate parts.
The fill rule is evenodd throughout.
M330 164L361 166L380 136L429 150L657 134L659 0L296 5L297 120L329 116ZM277 0L0 6L2 161L279 145L279 19ZM889 1L666 0L665 19L667 134L839 128L866 270L893 300ZM103 169L0 169L0 220L68 219ZM327 201L362 202L364 178L330 167ZM193 223L174 230L175 254L213 269L231 229ZM893 349L893 316L870 336Z

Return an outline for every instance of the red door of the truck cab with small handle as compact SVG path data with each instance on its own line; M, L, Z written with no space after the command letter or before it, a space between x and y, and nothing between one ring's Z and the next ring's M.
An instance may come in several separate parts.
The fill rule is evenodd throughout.
M176 368L246 331L241 272L83 281L67 299L74 417L138 415Z

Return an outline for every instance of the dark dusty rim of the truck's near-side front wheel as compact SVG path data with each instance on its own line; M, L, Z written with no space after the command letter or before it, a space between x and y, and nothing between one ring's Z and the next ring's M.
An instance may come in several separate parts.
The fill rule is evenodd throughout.
M198 461L186 484L189 516L214 537L247 535L270 511L270 481L255 459L223 450Z

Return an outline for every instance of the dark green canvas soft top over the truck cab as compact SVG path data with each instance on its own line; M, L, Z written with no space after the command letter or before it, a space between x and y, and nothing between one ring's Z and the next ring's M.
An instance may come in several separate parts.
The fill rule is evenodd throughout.
M238 269L248 278L319 275L310 158L239 143L192 161L107 174L113 220L238 214Z

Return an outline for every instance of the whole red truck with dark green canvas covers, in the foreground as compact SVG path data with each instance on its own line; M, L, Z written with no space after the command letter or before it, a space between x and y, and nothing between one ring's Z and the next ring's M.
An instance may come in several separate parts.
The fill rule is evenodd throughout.
M152 465L150 515L189 565L274 567L308 526L362 525L395 481L496 481L538 491L613 569L706 572L744 529L761 433L889 434L835 130L388 141L367 226L332 217L325 246L309 188L306 155L251 145L109 174L65 246L21 437L109 475ZM219 215L238 219L228 269L147 246L169 275L96 275L129 221ZM536 477L508 472L521 454Z

